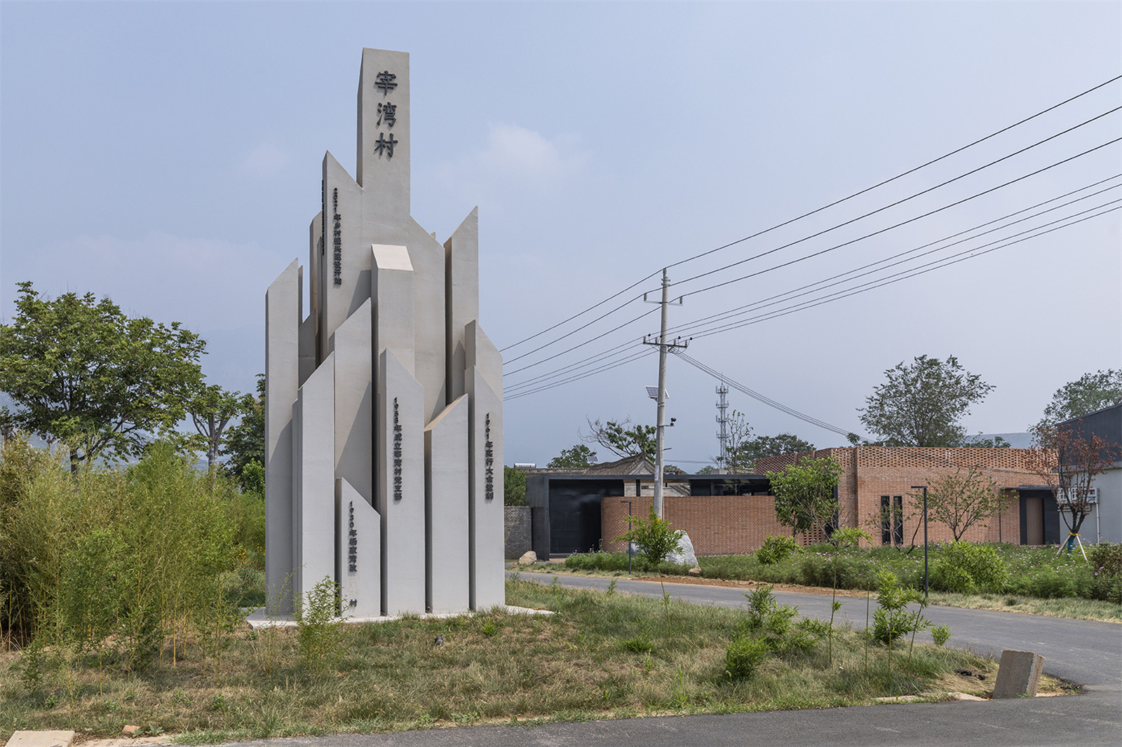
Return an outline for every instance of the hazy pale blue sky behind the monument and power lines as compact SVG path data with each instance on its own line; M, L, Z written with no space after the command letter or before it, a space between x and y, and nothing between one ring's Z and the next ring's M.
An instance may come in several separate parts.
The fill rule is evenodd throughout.
M443 241L479 205L481 323L506 348L666 265L1115 77L1120 29L1118 2L4 1L0 316L10 317L15 284L25 279L52 296L108 295L132 313L200 332L210 342L209 377L251 389L264 370L265 288L294 257L306 260L324 150L353 169L364 46L411 53L414 218ZM671 310L671 324L772 303L926 245L909 257L936 251L820 293L1118 208L1115 142L854 241L1119 138L1122 116L1114 112L808 238L1120 105L1122 81L855 200L674 267L678 296L838 247L687 296ZM1027 220L1006 227L1018 219ZM1052 221L1060 222L1045 225ZM950 239L967 239L953 248L934 243L984 223ZM646 280L581 321L657 287ZM695 328L688 353L863 434L856 408L886 368L954 354L996 387L974 407L969 430L1021 431L1060 385L1122 366L1120 287L1119 213L1106 212L834 303L708 336ZM531 377L656 332L655 310L633 301L526 358L512 360L573 325L506 350L508 396ZM652 313L609 332L643 312ZM544 463L579 441L586 416L653 423L643 386L656 376L652 356L509 399L506 462ZM717 453L715 384L671 357L668 416L678 423L668 461L692 471ZM843 442L736 391L729 403L757 433Z

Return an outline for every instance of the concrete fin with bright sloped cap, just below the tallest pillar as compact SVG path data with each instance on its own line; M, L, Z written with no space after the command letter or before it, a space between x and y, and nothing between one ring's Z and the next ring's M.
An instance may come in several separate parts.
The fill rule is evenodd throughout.
M393 350L394 357L415 370L414 273L405 247L370 246L370 295L374 299L374 344L376 354Z

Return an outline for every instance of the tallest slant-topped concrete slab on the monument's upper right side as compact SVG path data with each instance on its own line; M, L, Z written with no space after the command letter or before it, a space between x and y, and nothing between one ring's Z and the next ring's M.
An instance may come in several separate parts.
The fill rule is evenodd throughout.
M448 400L465 391L465 328L479 319L479 208L473 208L444 242L445 369Z

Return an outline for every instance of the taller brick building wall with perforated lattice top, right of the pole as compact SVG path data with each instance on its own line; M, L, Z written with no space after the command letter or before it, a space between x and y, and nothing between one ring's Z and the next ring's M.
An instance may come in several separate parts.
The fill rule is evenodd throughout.
M815 459L834 457L843 468L838 483L839 518L843 526L862 526L873 535L874 544L881 543L881 497L902 496L904 514L910 513L908 495L913 485L930 485L934 480L965 473L977 467L983 476L993 478L1000 488L1017 488L1040 482L1029 468L1029 449L942 449L935 446L850 446L824 449L812 452ZM769 457L756 461L756 472L779 471L793 463L801 454ZM1012 494L1000 517L988 519L988 526L973 526L963 536L971 542L1020 542L1020 501ZM911 542L919 517L903 522L904 544ZM922 540L922 529L917 541ZM954 538L950 528L941 523L928 522L928 537L932 542Z

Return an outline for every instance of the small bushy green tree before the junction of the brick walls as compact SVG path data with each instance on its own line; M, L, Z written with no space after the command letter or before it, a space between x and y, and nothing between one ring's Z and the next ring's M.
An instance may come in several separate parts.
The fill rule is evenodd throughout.
M842 465L833 457L803 457L782 472L767 472L775 497L775 518L791 527L791 536L813 528L826 532L838 507L834 489L840 477Z

